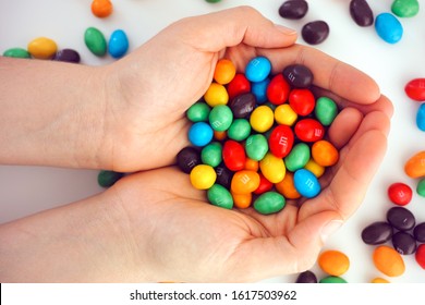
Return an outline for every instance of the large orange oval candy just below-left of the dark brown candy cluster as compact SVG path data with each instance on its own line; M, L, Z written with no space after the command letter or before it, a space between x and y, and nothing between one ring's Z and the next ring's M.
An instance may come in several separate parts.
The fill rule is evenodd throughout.
M377 246L373 253L373 260L375 267L388 277L399 277L405 271L403 258L390 246Z

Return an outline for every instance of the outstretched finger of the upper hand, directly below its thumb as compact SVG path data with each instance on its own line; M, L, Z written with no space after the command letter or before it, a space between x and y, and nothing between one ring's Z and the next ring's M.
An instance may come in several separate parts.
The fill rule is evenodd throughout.
M308 66L314 75L314 85L353 102L369 105L380 96L378 85L368 75L315 48L294 45L279 50L260 50L259 54L271 60L274 73L293 63Z

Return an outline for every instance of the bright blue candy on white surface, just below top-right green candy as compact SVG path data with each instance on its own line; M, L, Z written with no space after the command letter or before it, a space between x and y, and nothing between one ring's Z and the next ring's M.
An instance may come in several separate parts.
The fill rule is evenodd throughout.
M403 36L403 26L391 13L380 13L376 16L375 30L388 44L396 44Z

